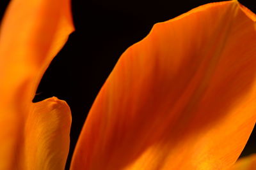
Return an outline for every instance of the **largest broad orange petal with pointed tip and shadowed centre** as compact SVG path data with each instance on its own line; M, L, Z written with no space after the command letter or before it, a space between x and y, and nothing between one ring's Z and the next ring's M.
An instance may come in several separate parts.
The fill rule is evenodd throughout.
M252 17L225 1L154 25L100 90L71 169L234 164L256 118Z

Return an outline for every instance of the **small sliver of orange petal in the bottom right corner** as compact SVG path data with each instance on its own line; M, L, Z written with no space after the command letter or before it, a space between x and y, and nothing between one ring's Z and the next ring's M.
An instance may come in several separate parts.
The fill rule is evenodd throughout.
M230 170L255 170L256 154L237 160L236 164Z

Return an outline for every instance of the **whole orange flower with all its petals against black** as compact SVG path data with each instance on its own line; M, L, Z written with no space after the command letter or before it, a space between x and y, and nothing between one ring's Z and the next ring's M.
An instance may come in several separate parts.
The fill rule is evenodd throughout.
M227 169L256 119L256 16L237 1L154 25L99 92L70 169ZM73 31L68 0L13 0L0 32L0 169L64 169L70 110L32 103ZM252 169L255 156L233 169Z

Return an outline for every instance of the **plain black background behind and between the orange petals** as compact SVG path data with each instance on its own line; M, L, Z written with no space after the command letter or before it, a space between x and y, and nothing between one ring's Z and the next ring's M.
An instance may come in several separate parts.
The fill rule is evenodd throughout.
M52 60L40 82L34 101L56 96L72 110L70 153L67 166L87 113L126 48L144 38L152 25L177 17L204 0L72 0L76 32ZM239 1L256 13L256 2ZM1 0L0 17L8 1ZM241 157L256 153L255 129Z

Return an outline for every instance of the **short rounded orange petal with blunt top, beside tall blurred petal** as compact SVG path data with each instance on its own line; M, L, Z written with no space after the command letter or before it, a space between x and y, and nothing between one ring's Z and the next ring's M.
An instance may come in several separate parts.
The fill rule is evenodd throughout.
M71 114L65 101L52 97L33 104L24 131L24 169L64 169L70 126Z

